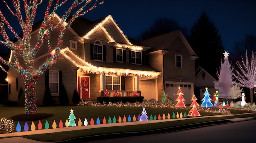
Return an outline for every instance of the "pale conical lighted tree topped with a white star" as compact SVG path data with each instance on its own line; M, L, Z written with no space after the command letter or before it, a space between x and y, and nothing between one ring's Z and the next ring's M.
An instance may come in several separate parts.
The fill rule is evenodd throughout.
M231 68L231 64L229 63L227 51L224 54L224 62L221 63L221 67L219 72L217 71L217 75L219 80L213 81L214 87L218 90L219 98L224 99L232 99L232 86L235 84L234 81L234 73Z

